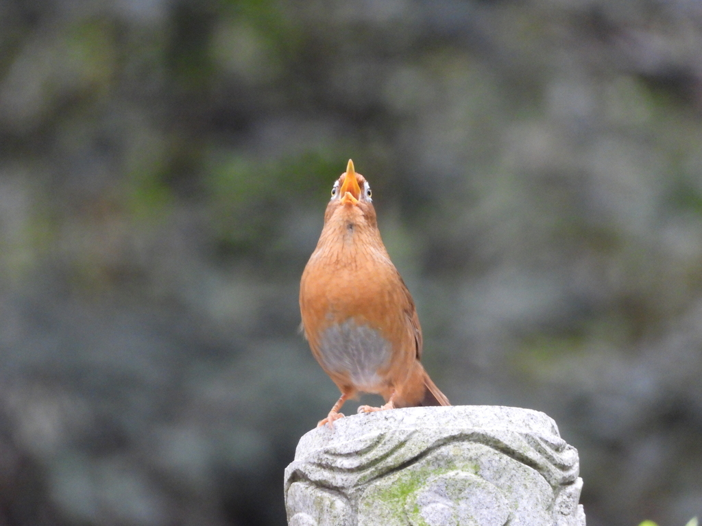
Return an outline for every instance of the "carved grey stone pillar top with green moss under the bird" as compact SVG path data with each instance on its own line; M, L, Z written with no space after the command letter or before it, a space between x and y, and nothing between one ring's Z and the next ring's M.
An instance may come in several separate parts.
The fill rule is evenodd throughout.
M541 412L409 407L300 439L289 526L585 526L578 452Z

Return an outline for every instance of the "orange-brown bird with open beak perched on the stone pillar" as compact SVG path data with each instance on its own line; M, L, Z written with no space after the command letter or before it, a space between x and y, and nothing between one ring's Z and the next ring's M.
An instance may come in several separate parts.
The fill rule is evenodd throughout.
M385 399L359 412L450 405L419 361L414 302L380 238L371 188L350 159L300 280L300 313L314 358L341 391L319 426L333 426L344 402L359 393Z

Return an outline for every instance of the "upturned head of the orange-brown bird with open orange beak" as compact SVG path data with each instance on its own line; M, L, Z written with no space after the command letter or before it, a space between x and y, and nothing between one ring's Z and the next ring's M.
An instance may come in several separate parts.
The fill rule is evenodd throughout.
M363 175L356 173L351 159L346 166L346 172L341 174L331 188L331 200L326 206L324 223L332 220L376 227L376 210L371 199L371 187Z

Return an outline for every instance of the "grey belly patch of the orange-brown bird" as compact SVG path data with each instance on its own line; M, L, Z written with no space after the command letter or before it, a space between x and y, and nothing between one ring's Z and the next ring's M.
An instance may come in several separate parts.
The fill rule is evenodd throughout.
M388 365L391 350L380 332L353 320L324 330L319 346L324 367L347 373L360 391L371 393L382 385L377 371Z

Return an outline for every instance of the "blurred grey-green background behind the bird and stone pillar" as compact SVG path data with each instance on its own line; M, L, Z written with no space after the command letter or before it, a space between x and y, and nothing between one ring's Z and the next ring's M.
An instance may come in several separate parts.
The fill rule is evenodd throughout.
M0 525L285 524L349 158L449 399L701 512L700 2L4 0Z

